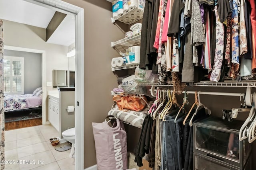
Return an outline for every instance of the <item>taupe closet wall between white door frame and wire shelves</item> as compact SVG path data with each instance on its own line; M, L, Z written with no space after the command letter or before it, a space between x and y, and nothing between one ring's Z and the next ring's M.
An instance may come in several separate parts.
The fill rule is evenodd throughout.
M124 37L111 23L112 5L106 0L64 0L84 8L84 168L96 164L92 122L102 122L113 104L117 86L110 63L118 53L110 42Z

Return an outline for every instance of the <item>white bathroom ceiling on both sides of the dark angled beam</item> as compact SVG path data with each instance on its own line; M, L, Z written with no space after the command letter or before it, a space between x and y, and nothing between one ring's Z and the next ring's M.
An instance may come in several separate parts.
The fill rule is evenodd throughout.
M46 28L55 10L38 6L24 0L0 0L0 18ZM75 41L74 16L67 15L54 31L48 43L69 46Z

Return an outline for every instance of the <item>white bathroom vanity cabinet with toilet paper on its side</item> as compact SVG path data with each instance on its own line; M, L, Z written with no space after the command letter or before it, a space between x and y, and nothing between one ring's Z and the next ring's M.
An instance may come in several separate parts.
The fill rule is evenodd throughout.
M61 139L62 132L75 127L75 111L68 112L68 106L75 106L75 89L58 88L48 91L48 120L59 132Z

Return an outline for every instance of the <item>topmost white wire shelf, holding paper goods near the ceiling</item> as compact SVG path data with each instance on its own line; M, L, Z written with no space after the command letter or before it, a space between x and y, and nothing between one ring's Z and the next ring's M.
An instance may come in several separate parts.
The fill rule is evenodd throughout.
M140 8L139 6L143 5L143 3L144 3L143 1L140 1L135 6L124 11L123 14L119 14L118 16L111 18L111 22L114 23L116 20L118 20L126 24L131 24L142 19L144 9Z

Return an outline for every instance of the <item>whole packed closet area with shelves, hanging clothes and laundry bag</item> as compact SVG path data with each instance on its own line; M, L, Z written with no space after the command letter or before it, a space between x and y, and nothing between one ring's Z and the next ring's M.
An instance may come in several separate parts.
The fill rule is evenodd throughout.
M123 36L98 170L256 169L256 1L107 1Z

